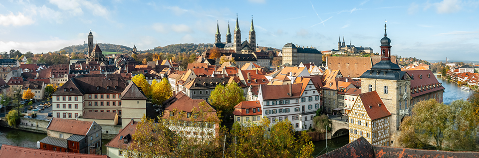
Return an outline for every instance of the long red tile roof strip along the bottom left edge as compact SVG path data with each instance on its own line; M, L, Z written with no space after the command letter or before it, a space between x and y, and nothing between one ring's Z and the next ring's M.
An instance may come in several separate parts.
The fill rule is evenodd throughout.
M31 149L2 145L0 158L110 158L106 155L78 154L66 152L54 152L41 149Z

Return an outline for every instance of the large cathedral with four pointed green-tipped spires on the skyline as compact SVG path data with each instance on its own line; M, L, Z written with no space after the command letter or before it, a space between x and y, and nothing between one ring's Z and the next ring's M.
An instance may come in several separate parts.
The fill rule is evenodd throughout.
M215 48L235 50L236 53L251 54L256 51L256 31L254 31L253 18L251 17L251 28L249 29L249 42L241 42L240 25L238 24L238 15L236 16L236 27L231 41L230 23L228 23L228 32L226 33L226 42L221 42L220 26L217 23L215 34Z

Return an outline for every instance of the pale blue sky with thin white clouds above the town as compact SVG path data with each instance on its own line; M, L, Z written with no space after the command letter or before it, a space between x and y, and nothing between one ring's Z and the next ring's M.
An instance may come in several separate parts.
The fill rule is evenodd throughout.
M424 60L479 58L479 0L1 0L0 52L56 51L94 42L139 50L226 40L238 14L241 40L251 17L259 46L292 42L318 50L347 44ZM232 32L233 33L233 32Z

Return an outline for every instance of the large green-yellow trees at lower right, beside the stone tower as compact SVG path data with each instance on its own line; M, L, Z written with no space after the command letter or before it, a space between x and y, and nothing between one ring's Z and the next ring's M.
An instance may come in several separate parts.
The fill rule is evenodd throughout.
M421 101L412 109L413 115L401 124L399 146L423 148L436 146L438 150L474 150L478 116L474 106L464 100L450 105L435 99Z

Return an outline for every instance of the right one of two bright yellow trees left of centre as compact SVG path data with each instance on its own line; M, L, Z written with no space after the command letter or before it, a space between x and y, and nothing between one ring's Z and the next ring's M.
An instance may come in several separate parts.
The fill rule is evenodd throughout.
M163 101L173 96L170 82L167 78L161 79L160 82L153 80L151 83L151 102L157 105L161 105Z

